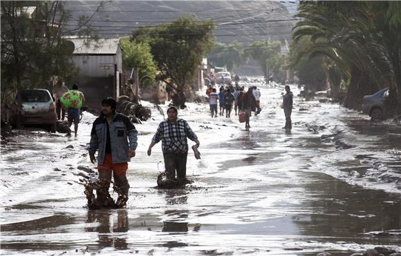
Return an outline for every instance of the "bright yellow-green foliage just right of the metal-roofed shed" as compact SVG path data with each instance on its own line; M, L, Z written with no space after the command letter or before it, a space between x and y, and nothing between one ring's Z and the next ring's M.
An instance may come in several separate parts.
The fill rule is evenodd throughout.
M148 77L144 80L148 83L154 81L158 68L153 55L151 55L151 46L149 43L138 43L136 40L129 39L120 40L122 47L122 65L130 68L139 69L139 77Z

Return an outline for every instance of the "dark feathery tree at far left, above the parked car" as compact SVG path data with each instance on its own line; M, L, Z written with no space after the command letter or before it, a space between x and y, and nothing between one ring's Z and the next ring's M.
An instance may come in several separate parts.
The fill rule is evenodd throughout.
M100 4L102 6L102 4ZM56 79L76 75L73 48L64 38L73 33L93 35L81 17L66 30L71 15L62 1L1 1L1 95L19 88L52 89Z

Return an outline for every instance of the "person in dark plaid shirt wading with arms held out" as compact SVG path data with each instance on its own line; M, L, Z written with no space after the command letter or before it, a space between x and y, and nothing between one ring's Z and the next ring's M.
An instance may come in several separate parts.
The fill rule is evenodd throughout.
M187 176L187 138L195 141L196 148L199 147L199 141L187 121L177 117L176 108L169 108L167 116L168 118L159 124L147 155L151 155L151 149L161 140L167 179L175 179L177 173L177 179L180 182Z

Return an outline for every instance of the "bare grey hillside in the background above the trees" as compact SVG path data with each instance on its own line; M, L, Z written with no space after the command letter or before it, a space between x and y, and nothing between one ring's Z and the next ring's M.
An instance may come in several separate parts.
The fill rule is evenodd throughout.
M156 26L183 14L194 14L198 19L212 19L217 26L216 41L223 43L283 38L290 41L295 23L278 1L105 1L97 12L100 1L64 4L75 20L81 15L93 15L88 26L98 30L100 37L127 37L138 26ZM70 29L76 26L76 22L68 24Z

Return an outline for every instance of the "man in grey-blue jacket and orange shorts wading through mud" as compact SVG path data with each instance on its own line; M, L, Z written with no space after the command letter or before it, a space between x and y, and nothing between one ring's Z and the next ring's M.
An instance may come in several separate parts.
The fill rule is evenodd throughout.
M114 189L118 192L116 204L122 208L128 200L128 162L131 157L135 157L138 132L128 117L115 112L115 106L116 102L111 97L102 100L102 112L93 122L89 156L95 164L95 152L99 150L97 170L99 179L104 182L101 183L102 188L97 190L98 203L109 206L109 187L113 173Z

